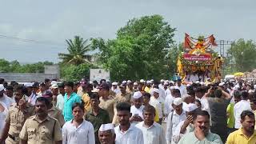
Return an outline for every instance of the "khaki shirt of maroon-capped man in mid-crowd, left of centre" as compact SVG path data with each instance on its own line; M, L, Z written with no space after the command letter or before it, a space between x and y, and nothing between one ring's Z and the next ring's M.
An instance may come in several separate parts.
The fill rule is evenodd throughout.
M110 122L112 122L114 117L114 98L109 96L109 99L104 100L102 97L99 98L99 107L106 110L110 115Z

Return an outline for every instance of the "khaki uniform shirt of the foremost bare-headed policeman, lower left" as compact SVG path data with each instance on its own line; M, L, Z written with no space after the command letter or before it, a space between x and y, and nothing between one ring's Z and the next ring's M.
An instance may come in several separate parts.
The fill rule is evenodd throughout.
M54 144L62 141L62 130L56 119L47 116L41 121L34 115L26 119L19 138L27 144Z

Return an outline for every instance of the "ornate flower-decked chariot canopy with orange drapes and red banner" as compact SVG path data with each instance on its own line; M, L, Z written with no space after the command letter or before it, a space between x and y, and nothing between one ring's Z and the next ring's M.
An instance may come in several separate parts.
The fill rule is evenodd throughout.
M223 58L212 50L214 46L217 46L214 35L192 38L185 34L184 49L177 62L178 74L183 80L186 74L194 72L207 73L211 81L221 78Z

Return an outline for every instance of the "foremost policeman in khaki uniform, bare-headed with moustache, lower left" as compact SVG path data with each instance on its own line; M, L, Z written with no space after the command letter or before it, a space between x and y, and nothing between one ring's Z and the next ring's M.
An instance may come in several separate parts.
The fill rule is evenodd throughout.
M27 118L19 134L21 144L62 144L62 131L58 121L50 118L50 102L43 97L35 104L36 115Z

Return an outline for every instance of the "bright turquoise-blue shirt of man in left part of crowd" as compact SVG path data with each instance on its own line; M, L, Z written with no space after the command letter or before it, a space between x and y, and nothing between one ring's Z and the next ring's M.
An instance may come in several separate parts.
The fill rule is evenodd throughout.
M77 102L81 103L81 97L78 94L72 93L70 94L70 98L67 98L67 94L64 95L63 116L66 122L73 119L72 106Z

